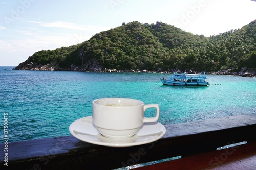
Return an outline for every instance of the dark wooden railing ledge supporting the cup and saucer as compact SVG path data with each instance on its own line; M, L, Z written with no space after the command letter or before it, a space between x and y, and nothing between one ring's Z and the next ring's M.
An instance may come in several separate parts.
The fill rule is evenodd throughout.
M251 160L246 167L256 167L256 114L165 127L163 138L134 147L103 147L73 136L11 142L8 152L6 143L1 143L0 169L115 169L177 156L181 158L139 169L214 169L246 158ZM246 144L216 150L239 142Z

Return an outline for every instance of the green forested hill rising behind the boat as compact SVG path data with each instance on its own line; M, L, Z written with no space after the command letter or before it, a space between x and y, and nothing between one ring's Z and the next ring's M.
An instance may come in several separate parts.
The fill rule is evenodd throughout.
M221 27L221 26L220 26ZM205 37L162 22L122 23L81 44L42 50L15 69L218 71L256 67L256 20L238 30Z

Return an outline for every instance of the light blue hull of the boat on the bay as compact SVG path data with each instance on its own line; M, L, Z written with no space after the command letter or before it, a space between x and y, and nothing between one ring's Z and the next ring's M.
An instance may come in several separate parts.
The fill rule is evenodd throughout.
M183 81L170 81L166 79L161 79L161 82L163 85L168 86L208 86L209 83L207 81L205 82L183 82Z

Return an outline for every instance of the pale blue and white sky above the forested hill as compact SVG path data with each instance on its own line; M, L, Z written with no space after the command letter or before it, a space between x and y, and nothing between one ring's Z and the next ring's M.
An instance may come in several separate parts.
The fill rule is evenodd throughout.
M217 35L256 19L251 0L0 0L0 66L17 66L41 50L90 39L123 22L161 21Z

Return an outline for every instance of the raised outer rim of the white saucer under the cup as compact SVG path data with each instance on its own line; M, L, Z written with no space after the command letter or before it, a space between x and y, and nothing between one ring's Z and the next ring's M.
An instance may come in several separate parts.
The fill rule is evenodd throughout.
M107 146L107 147L132 147L132 146L135 146L135 145L142 145L142 144L147 144L147 143L154 142L154 141L162 138L166 133L166 128L159 122L156 122L157 124L153 124L153 125L148 124L148 126L158 126L158 125L160 125L161 126L161 131L160 132L162 132L162 133L159 134L155 138L151 138L151 139L144 140L144 141L139 141L139 142L134 141L134 142L127 142L127 143L112 143L112 142L94 141L94 140L90 140L88 138L83 138L83 137L77 135L75 132L73 132L73 130L75 130L73 128L74 124L78 123L80 120L82 120L84 118L90 118L90 117L92 117L92 116L82 117L82 118L79 118L79 119L75 120L73 123L71 123L70 126L69 126L69 131L70 131L71 135L74 136L75 138L81 140L81 141L92 143L92 144L97 144L97 145L102 145L102 146ZM92 123L89 123L89 122L87 122L87 123L92 124ZM146 123L144 123L144 124L146 124ZM92 127L92 128L94 128L96 130L95 127ZM97 135L99 135L99 133L97 133L95 135L97 136ZM138 137L140 137L140 136L138 136Z

